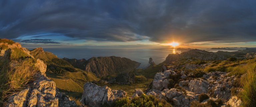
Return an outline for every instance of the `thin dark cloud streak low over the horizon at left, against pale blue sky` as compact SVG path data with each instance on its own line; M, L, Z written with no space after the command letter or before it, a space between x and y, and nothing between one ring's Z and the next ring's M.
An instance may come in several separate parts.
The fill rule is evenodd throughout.
M45 43L45 44L60 44L60 42L53 41L51 39L24 39L24 40L14 40L20 43Z

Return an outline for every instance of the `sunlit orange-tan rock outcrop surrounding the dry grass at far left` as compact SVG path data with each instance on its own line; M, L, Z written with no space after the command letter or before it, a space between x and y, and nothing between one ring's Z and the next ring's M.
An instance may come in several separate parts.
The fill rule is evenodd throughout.
M30 55L30 51L26 48L22 48L19 43L13 43L12 45L9 45L7 43L0 43L0 46L1 45L5 45L5 48L7 48L4 50L4 54L1 50L2 57L10 57L10 55L8 54L14 52L15 49L18 48L19 51L21 50L24 53L28 54L28 56L30 56L31 58L34 58L32 55ZM8 98L7 107L76 106L74 101L71 101L64 93L58 91L54 81L46 77L45 72L47 65L42 60L37 59L35 67L37 67L39 70L38 73L35 74L35 80L29 83L26 89L20 91L17 94L11 95ZM63 100L65 100L65 102Z

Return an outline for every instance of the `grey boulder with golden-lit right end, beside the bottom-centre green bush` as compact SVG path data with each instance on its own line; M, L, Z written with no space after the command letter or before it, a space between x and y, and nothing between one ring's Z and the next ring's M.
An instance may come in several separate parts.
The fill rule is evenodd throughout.
M126 97L123 90L114 90L108 86L98 86L87 82L84 84L84 91L80 102L89 107L102 107L103 104L112 104L114 100Z

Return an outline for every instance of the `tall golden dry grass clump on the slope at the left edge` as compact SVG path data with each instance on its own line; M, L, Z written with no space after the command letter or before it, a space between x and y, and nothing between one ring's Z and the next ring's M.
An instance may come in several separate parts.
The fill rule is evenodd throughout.
M19 91L27 88L29 82L33 81L38 68L34 66L35 59L1 61L1 102Z

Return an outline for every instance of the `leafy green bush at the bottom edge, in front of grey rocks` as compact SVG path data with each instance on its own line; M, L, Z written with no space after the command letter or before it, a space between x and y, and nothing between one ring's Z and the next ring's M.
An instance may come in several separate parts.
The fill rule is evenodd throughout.
M114 101L114 107L172 107L165 100L159 100L153 95L141 95L130 100L128 97Z

